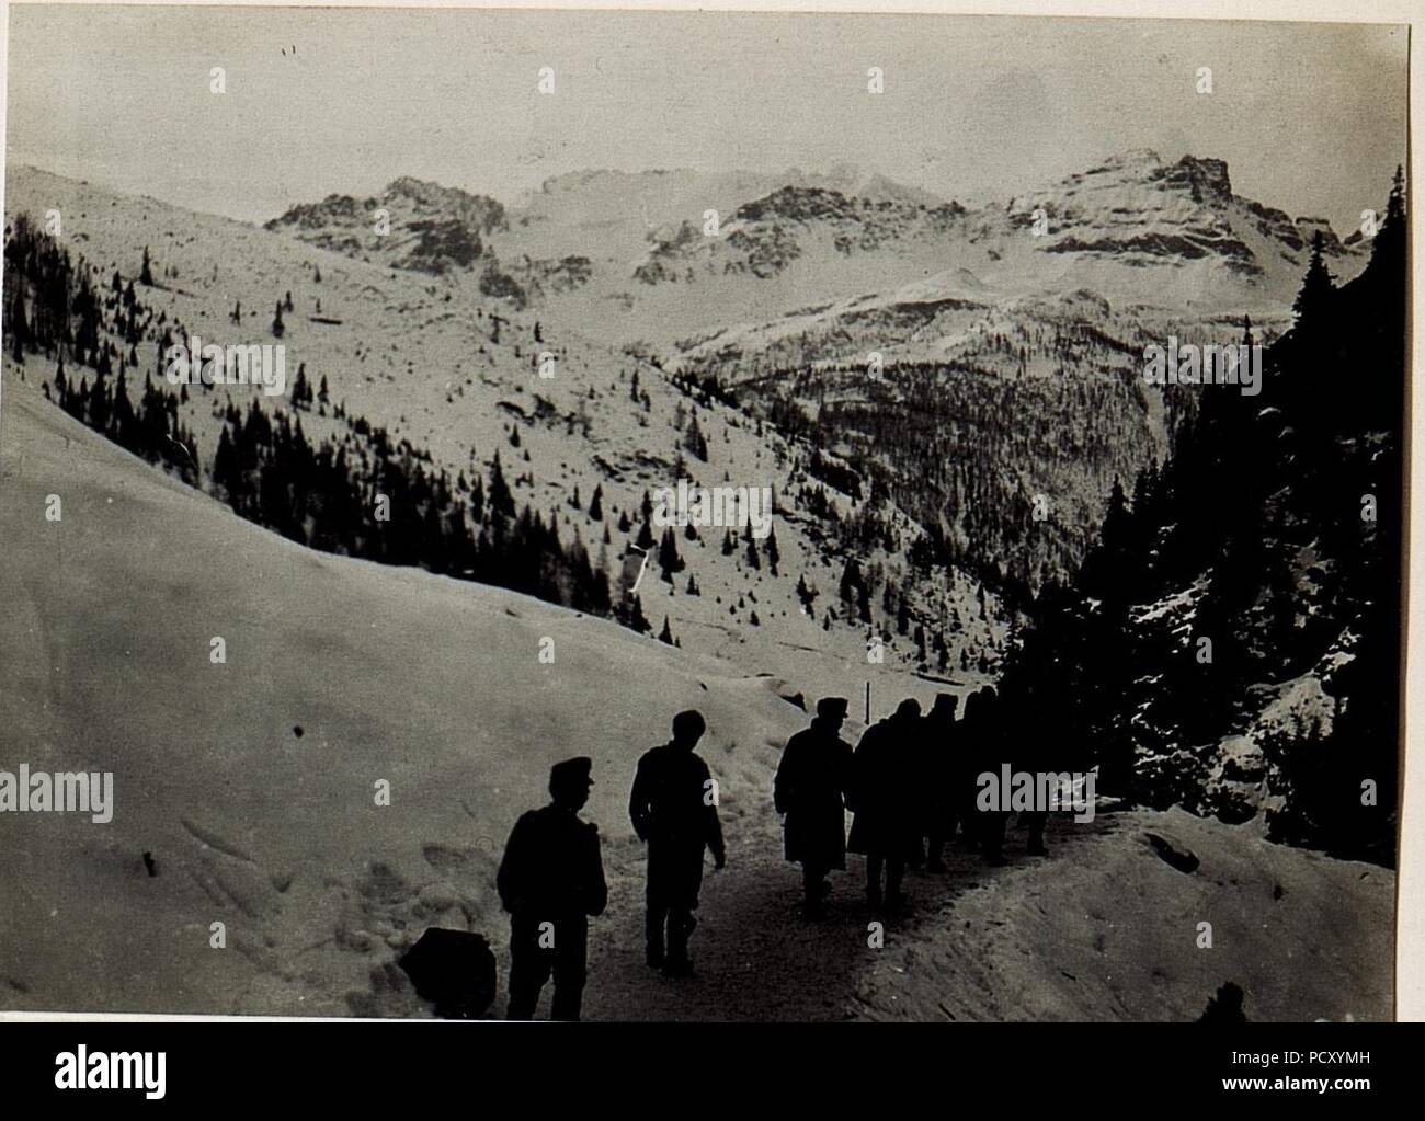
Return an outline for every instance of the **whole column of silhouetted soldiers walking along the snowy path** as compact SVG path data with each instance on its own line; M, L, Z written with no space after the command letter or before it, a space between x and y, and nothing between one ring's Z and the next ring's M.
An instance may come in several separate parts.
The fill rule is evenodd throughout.
M804 914L822 916L846 853L866 857L866 902L876 913L902 910L906 867L945 873L945 846L956 836L990 865L1003 865L1006 813L976 808L976 775L1006 755L1005 721L993 688L958 699L939 694L922 716L915 699L866 728L852 751L839 732L846 701L822 698L811 726L782 749L772 789L782 815L787 860L802 867ZM673 738L638 759L628 812L647 845L647 960L671 977L693 974L688 939L697 926L705 853L727 865L708 765L694 752L707 724L697 711L673 719ZM577 1020L586 980L589 917L607 903L598 830L579 818L589 801L593 761L550 769L550 805L524 813L506 843L497 875L510 914L506 1018L529 1020L553 977L551 1016ZM852 812L851 836L845 810ZM1045 856L1046 813L1022 813L1027 855Z

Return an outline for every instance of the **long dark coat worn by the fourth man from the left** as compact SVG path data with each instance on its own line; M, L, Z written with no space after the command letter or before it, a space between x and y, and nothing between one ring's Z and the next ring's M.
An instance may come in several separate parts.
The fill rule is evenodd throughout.
M916 836L921 719L886 718L866 728L852 761L848 852L908 859Z

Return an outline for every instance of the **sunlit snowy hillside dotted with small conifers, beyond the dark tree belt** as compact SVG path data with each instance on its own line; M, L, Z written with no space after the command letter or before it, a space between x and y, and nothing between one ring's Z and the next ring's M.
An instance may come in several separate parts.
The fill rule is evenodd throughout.
M393 208L396 256L412 252L395 212L399 199L420 208L426 219L437 207L476 215L480 236L499 224L486 201L433 192L413 181L395 184L383 202ZM452 479L460 471L470 480L483 477L499 453L514 500L546 514L556 511L563 540L577 533L596 560L603 550L611 575L637 530L643 494L675 486L680 459L703 486L772 487L779 507L774 521L782 557L778 574L765 561L751 570L741 546L724 557L721 528L704 528L697 541L680 534L687 567L674 583L650 571L638 588L646 617L656 632L667 617L685 648L735 652L750 664L758 661L750 651L764 650L761 661L794 665L814 681L822 672L828 681L854 672L856 662L864 667L862 681L866 672L881 672L866 665L865 628L822 625L825 608L835 605L844 560L824 543L826 527L798 501L805 480L798 460L805 450L725 405L695 406L658 369L589 338L581 325L550 320L543 309L512 311L459 271L436 276L358 261L305 244L299 239L305 232L292 236L197 215L33 168L10 168L6 205L11 217L28 212L36 219L58 209L61 244L76 258L86 255L100 288L107 288L114 271L133 278L148 248L161 288L141 288L141 293L167 316L178 339L197 333L219 345L272 342L274 303L291 292L295 311L285 313L281 339L289 383L305 366L309 383L326 380L332 406L343 403L348 416L388 427L393 442L425 449L432 469ZM229 319L235 306L241 306L241 323ZM157 346L145 340L138 349L140 370L155 369ZM540 376L544 356L553 358L549 377ZM41 365L30 359L27 366L33 392L54 372ZM73 360L68 365L77 382L84 370ZM636 377L647 402L634 399ZM140 379L131 375L130 380L137 387ZM229 399L245 407L249 396L255 395L245 386L195 390L181 407L205 466L217 447L222 407ZM266 407L272 403L264 400ZM705 434L705 462L685 450L693 416ZM314 443L346 432L346 422L332 409L305 410L299 419ZM817 486L842 514L854 507L848 496ZM603 489L601 518L589 513L596 487ZM620 531L624 514L633 528ZM701 594L687 594L690 577ZM821 593L817 618L802 611L795 594L801 577ZM993 654L1005 638L993 597L983 624L972 610L978 587L956 574L922 595L928 625L936 625L932 615L946 620L952 665L962 648L978 664L982 652ZM952 634L948 620L955 610L970 621ZM913 664L913 655L905 638L889 637L889 668Z

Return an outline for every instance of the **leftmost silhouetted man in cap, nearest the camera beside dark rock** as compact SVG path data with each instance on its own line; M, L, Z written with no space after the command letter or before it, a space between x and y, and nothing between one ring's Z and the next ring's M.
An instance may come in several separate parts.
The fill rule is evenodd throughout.
M504 845L496 877L510 913L510 1006L507 1020L534 1016L540 990L554 974L554 1020L577 1020L587 976L589 917L608 902L598 826L579 818L593 785L587 758L549 772L553 801L524 813Z

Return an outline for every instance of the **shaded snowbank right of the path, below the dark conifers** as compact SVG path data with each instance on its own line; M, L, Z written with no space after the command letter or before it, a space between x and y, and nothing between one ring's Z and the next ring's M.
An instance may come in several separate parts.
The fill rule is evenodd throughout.
M862 1016L1196 1020L1233 981L1248 1020L1391 1018L1394 872L1180 809L1056 832L1047 860L1012 835L1009 867L958 863L976 886L886 939Z

